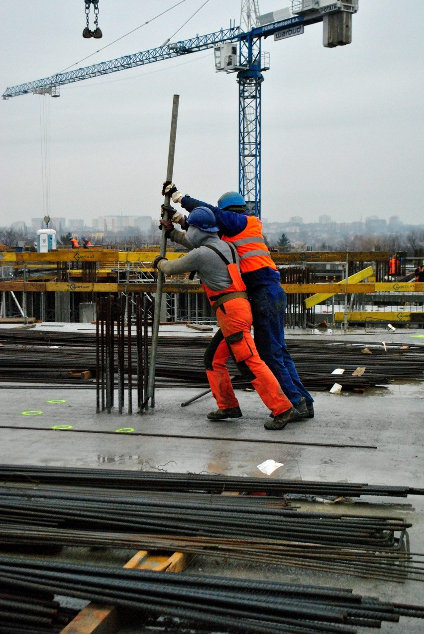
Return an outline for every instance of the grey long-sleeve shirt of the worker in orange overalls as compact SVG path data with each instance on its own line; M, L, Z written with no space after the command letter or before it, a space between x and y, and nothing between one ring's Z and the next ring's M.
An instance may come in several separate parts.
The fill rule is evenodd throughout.
M181 273L198 271L200 279L212 290L224 290L231 285L231 277L225 262L212 249L205 247L207 244L212 245L229 262L233 262L231 247L227 242L220 240L217 233L209 233L195 226L190 226L186 233L174 229L169 238L173 242L183 245L186 249L190 249L190 252L177 260L161 260L158 263L158 269L162 273L180 275ZM237 254L236 261L238 264Z

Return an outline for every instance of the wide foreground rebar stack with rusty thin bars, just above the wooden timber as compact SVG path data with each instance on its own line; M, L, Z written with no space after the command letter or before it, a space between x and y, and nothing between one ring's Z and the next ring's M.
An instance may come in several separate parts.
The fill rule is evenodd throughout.
M70 486L0 486L0 543L175 550L262 563L424 580L403 519L304 512L281 498ZM414 565L416 564L416 565Z

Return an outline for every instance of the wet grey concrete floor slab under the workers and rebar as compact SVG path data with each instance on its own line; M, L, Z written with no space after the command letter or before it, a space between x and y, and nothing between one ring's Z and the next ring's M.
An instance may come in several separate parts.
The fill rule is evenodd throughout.
M391 335L397 339L398 332ZM376 333L377 340L380 333ZM355 337L357 339L357 337ZM389 339L389 337L387 338ZM386 339L386 342L387 342ZM401 338L402 339L402 338ZM403 339L405 340L405 339ZM407 343L421 343L409 339ZM181 401L202 390L164 388L156 391L156 407L143 415L96 414L94 390L57 387L1 389L0 427L1 463L31 465L72 465L129 470L167 470L170 472L254 475L283 479L368 482L423 487L424 382L394 382L389 387L369 389L364 394L315 392L316 417L291 424L280 432L264 429L268 411L255 392L238 391L243 418L214 423L206 418L215 409L210 396L204 396L186 408ZM48 401L63 401L49 403ZM135 402L135 392L134 392ZM25 411L39 411L24 415ZM111 434L74 433L52 430L55 425L72 425L75 430ZM31 429L23 429L30 427ZM45 427L48 430L36 430ZM135 432L181 434L184 439L134 436L115 433L131 427ZM195 439L215 436L219 440ZM228 440L226 440L228 438ZM230 441L229 438L251 442ZM267 444L257 441L282 440L287 443L329 443L340 447L307 444ZM355 444L372 448L346 448ZM272 458L283 467L271 476L261 474L257 465ZM333 505L309 503L314 510L335 510ZM337 505L343 512L361 512L405 517L413 523L409 531L411 551L424 553L424 499L368 498L354 505ZM125 563L124 553L122 564ZM84 555L83 555L84 556ZM91 555L90 555L91 557ZM113 562L119 557L113 557ZM417 581L404 584L360 579L354 576L314 573L300 569L261 567L231 560L196 557L188 568L222 576L279 579L293 583L316 583L354 588L355 592L379 598L424 604L423 586ZM122 630L120 634L141 633L142 628ZM358 628L359 632L370 631ZM399 624L383 623L383 634L424 632L418 619L401 618Z

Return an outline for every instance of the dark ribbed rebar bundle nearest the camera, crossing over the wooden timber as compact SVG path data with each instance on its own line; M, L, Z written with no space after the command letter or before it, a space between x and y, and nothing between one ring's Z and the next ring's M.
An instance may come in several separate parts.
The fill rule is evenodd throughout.
M399 622L401 614L424 616L421 606L380 602L351 590L20 557L0 557L0 579L20 590L139 609L222 633L354 634L354 626L379 628L382 621Z

